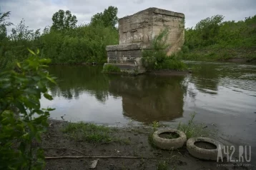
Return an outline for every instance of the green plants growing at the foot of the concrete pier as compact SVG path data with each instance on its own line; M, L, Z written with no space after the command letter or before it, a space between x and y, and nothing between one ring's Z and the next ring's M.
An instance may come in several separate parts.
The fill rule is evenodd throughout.
M167 37L168 29L162 30L158 36L155 36L152 40L150 49L144 49L142 51L142 65L147 71L152 70L177 70L183 71L187 69L177 55L167 56Z

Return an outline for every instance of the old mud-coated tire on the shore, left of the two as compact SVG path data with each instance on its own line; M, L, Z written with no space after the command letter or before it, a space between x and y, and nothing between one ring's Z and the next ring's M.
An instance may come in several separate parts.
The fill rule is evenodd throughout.
M168 132L179 134L179 137L176 139L165 139L159 136L159 134ZM154 144L161 149L178 149L187 141L187 136L183 131L179 131L177 129L160 129L154 132L152 139Z

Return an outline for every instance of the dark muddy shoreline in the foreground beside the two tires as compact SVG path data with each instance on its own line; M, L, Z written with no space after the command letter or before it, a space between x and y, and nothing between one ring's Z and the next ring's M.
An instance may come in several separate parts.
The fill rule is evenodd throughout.
M95 169L247 169L235 167L228 162L201 161L189 155L183 146L177 151L166 151L149 144L151 126L129 126L111 128L113 138L126 142L93 142L70 139L62 129L67 121L49 120L49 131L44 134L41 144L46 157L49 156L114 156L99 158ZM117 158L116 156L137 156L139 159ZM144 159L150 157L152 159ZM89 169L97 158L46 159L45 169ZM162 159L162 160L161 160ZM169 160L167 160L169 159ZM251 167L252 168L252 167Z

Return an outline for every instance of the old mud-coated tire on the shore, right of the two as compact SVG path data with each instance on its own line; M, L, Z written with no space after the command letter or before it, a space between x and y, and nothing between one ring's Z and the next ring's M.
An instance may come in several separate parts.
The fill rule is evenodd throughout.
M197 141L203 141L210 144L214 144L217 148L216 149L203 149L200 147L195 146L195 142ZM187 140L187 150L189 151L189 154L192 156L195 156L198 159L205 159L205 160L217 160L217 154L218 150L222 151L223 153L223 145L216 141L215 139L210 139L206 137L196 137L196 138L190 138Z

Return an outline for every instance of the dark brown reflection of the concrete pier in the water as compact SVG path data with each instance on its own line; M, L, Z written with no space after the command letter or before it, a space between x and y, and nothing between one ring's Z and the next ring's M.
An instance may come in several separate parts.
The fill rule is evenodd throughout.
M122 96L123 114L140 122L169 121L183 114L183 76L111 79L109 92Z

